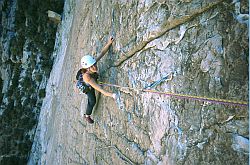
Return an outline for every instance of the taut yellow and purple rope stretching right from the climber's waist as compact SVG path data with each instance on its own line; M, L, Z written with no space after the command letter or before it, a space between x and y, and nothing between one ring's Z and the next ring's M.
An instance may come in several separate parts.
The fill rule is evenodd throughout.
M103 82L99 82L99 83L104 86L130 89L130 90L149 92L149 93L155 93L155 94L163 94L163 95L171 96L177 99L191 99L191 100L210 102L214 104L223 104L223 105L240 106L240 107L248 106L248 103L246 101L235 101L235 100L217 99L217 98L209 98L209 97L201 97L201 96L192 96L192 95L185 95L185 94L176 94L176 93L171 93L171 92L160 92L160 91L151 90L151 89L137 89L137 88L131 88L131 87L122 87L120 85L107 84Z

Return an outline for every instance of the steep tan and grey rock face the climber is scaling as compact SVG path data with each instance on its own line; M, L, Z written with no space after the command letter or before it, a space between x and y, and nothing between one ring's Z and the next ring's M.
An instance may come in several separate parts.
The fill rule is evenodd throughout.
M246 103L230 102L248 100L247 1L67 5L30 164L248 164ZM104 86L120 98L98 95L90 125L73 80L110 35L100 81L129 88Z

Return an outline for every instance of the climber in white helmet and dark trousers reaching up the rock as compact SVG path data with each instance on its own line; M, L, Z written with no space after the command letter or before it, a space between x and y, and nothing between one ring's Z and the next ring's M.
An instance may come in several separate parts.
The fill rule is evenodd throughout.
M86 109L86 114L84 114L85 119L89 123L94 123L94 120L91 118L92 110L96 104L95 90L101 92L105 96L116 98L115 93L110 93L97 83L98 78L98 69L97 62L107 53L109 47L114 41L113 37L110 37L107 44L103 47L100 55L95 59L92 55L85 55L81 59L82 68L78 71L77 76L81 75L84 83L89 87L86 95L88 97L88 105Z

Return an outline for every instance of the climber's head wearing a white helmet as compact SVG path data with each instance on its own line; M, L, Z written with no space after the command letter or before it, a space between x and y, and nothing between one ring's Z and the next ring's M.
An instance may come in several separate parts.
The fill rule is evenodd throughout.
M81 59L82 68L91 72L97 72L96 60L91 55L83 56Z

